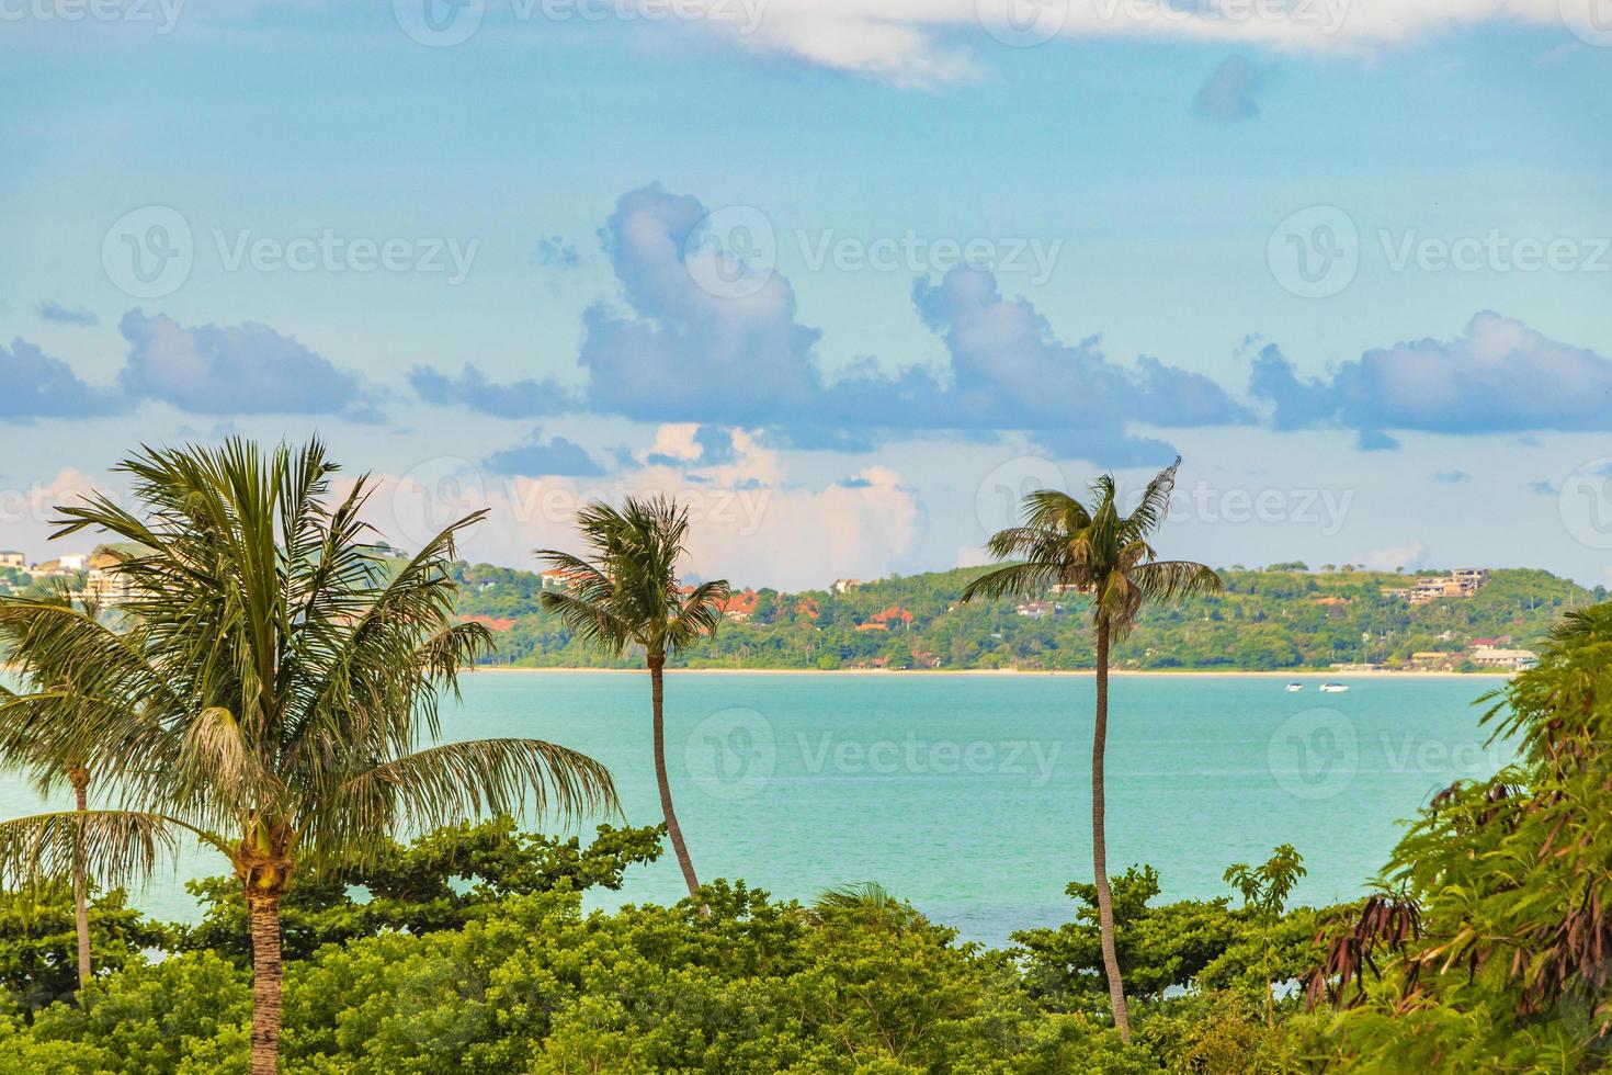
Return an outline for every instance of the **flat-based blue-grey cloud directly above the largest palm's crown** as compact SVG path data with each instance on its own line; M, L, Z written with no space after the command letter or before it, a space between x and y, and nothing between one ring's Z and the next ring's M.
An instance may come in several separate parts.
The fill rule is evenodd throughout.
M129 342L119 376L129 396L193 414L340 414L364 405L353 374L264 324L189 327L131 309L118 330Z

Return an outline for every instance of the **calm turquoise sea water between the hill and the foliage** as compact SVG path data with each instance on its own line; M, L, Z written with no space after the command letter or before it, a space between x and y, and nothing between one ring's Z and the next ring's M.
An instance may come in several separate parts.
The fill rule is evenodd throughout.
M1383 864L1396 820L1485 749L1472 701L1493 679L1352 679L1301 693L1267 677L1116 677L1107 751L1109 869L1151 862L1167 898L1225 894L1232 862L1293 843L1299 898L1346 899ZM1001 943L1069 919L1090 880L1093 683L1077 675L667 677L667 762L701 878L779 896L877 880L966 936ZM627 820L658 820L648 677L482 674L445 712L448 738L530 735L609 766ZM0 785L6 816L37 809ZM590 833L592 825L585 830ZM187 857L184 870L222 872ZM667 854L598 904L669 901ZM189 917L172 880L140 906Z

